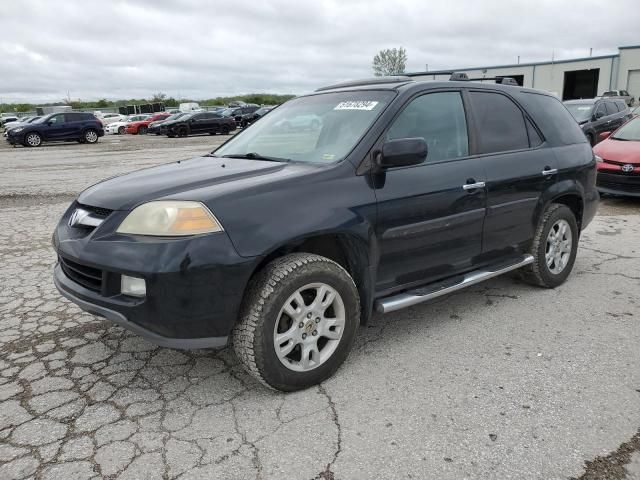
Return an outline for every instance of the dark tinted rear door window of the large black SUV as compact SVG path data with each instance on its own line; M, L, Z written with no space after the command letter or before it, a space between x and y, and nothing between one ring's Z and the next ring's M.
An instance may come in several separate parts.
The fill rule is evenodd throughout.
M509 98L499 93L470 92L478 123L478 152L506 152L529 148L524 116Z

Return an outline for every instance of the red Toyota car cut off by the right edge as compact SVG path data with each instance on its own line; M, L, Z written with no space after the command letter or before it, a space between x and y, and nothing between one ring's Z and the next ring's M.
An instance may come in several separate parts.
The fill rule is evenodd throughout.
M629 120L593 147L598 162L597 187L601 193L640 197L640 117Z

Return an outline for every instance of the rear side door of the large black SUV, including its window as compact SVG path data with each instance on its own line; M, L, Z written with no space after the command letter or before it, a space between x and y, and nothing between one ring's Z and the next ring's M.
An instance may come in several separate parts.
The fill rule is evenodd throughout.
M499 91L470 90L477 161L487 172L483 259L521 252L533 238L536 206L557 179L553 152L524 110Z

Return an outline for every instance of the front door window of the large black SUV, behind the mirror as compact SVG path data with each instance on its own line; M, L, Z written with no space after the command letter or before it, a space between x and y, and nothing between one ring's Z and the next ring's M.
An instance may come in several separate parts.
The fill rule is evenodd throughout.
M387 139L414 137L422 137L427 142L427 162L469 155L460 93L431 93L412 100L394 120Z

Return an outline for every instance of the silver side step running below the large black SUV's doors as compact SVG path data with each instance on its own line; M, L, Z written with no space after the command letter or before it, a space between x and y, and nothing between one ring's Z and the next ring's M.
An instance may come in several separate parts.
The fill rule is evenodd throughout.
M530 263L533 263L533 256L524 255L506 264L501 263L500 265L486 267L480 270L474 270L472 272L466 273L465 275L459 277L460 281L454 283L453 285L450 282L445 283L444 285L442 282L438 282L435 285L428 285L419 289L407 290L406 292L398 293L397 295L392 295L390 297L376 300L375 308L376 311L381 313L394 312L396 310L400 310L401 308L411 307L413 305L417 305L418 303L426 302L427 300L446 295L447 293L461 290L470 285L475 285L476 283L483 282L485 280L488 280L489 278L497 277L498 275L510 272L511 270L516 270L520 267L524 267L525 265L529 265Z

